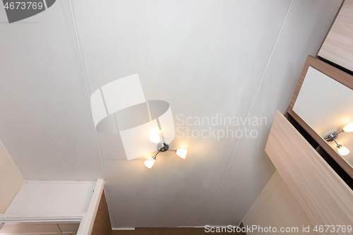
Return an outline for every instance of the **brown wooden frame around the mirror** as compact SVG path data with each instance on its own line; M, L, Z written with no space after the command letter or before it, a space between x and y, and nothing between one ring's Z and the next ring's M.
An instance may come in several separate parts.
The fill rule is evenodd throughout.
M323 140L323 138L321 138L321 136L318 135L316 131L313 131L313 129L293 111L294 104L297 101L301 85L303 84L309 66L315 68L321 73L324 73L325 75L329 76L333 80L336 80L342 85L345 85L347 88L350 88L353 92L353 76L349 75L348 73L345 73L344 71L341 71L338 68L335 68L334 66L330 66L329 64L325 63L324 61L321 61L320 59L313 58L313 56L308 56L306 58L303 71L301 71L297 88L295 88L294 95L292 97L291 102L289 103L287 113L292 116L300 124L300 126L302 126L304 130L309 133L309 135L311 135L314 140L316 140L318 145L320 145L323 150L325 150L335 160L335 162L337 162L337 164L340 164L340 167L342 167L342 169L344 169L347 174L349 174L349 176L353 178L353 167L349 163L347 163L345 159L343 159L335 150L333 150L333 148L325 140Z

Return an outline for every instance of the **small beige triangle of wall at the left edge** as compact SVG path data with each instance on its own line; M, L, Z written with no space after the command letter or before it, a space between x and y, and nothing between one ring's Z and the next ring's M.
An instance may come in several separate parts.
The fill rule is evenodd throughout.
M4 145L0 142L0 214L4 213L8 203L20 190L20 186L24 183L23 177L20 175L11 157L5 150Z

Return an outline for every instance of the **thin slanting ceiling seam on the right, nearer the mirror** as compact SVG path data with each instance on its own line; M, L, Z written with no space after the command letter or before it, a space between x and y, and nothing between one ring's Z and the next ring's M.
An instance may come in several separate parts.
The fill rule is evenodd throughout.
M280 32L278 32L277 38L276 38L276 40L275 40L275 44L273 44L273 48L272 48L272 50L271 50L270 56L268 57L268 61L267 61L267 63L266 63L265 69L263 70L263 74L262 74L262 76L261 76L261 80L260 80L260 82L258 83L258 88L256 89L255 95L253 96L253 100L252 100L252 102L251 102L251 104L250 104L250 107L249 107L248 113L246 114L246 117L249 116L249 114L250 114L250 112L251 112L251 108L253 107L253 104L254 104L254 102L255 102L255 100L256 100L256 97L257 97L257 95L258 95L258 92L259 92L259 90L260 90L260 88L261 88L261 84L262 84L262 82L263 82L263 78L264 78L264 76L265 76L265 72L266 72L266 70L267 70L267 68L268 68L268 64L270 64L270 60L271 60L271 58L272 58L272 55L273 55L273 52L274 52L275 47L276 47L276 45L277 45L277 42L278 42L278 40L279 40L279 38L280 38L280 35L281 35L281 32L282 32L283 26L285 25L285 21L287 20L287 16L288 16L288 14L289 14L289 10L290 10L290 8L291 8L291 6L292 6L292 3L293 3L293 0L291 0L290 4L289 4L289 6L288 6L287 13L286 13L286 15L285 15L285 18L283 19L283 22L282 22L282 25L281 25L281 28L280 28ZM245 127L245 123L244 123L243 126L241 127L241 132L244 130L244 127ZM207 224L207 223L208 223L208 220L210 219L211 212L213 211L213 207L214 207L214 205L215 205L215 200L217 199L217 196L218 196L218 194L220 193L220 188L221 188L223 182L225 181L225 176L226 176L227 171L228 171L228 169L229 169L229 165L230 165L230 163L232 162L232 159L234 158L234 153L235 153L235 150L237 150L238 143L239 143L239 138L237 139L237 141L236 141L236 143L235 143L235 145L234 145L232 154L231 154L230 157L229 157L229 160L228 160L228 163L227 163L227 167L225 168L225 173L223 174L222 180L220 181L220 185L219 185L218 188L217 188L217 192L216 192L215 198L213 199L213 203L212 203L212 205L211 205L211 207L210 207L210 211L208 212L208 217L206 218L205 224ZM243 218L243 219L244 219L244 218Z

